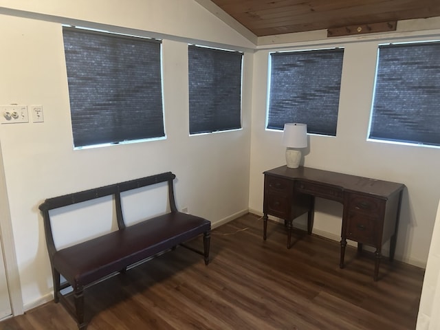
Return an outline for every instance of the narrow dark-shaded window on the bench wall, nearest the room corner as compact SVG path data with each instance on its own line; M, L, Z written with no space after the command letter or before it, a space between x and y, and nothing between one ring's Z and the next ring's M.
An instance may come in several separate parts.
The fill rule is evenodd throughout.
M241 128L243 53L188 46L190 134Z

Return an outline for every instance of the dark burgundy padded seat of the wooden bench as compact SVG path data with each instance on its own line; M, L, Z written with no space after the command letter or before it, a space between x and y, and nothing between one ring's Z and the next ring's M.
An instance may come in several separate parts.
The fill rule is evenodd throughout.
M210 221L172 212L59 250L54 268L78 287L98 281L137 261L210 230Z

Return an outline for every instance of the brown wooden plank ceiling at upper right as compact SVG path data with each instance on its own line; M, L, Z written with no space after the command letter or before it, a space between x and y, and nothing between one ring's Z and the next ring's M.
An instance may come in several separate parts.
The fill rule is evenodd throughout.
M212 2L256 36L440 17L440 0L212 0Z

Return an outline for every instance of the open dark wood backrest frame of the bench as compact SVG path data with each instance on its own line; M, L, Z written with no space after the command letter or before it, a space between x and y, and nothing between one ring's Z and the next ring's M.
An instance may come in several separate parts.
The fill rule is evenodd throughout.
M80 192L74 192L69 195L63 195L63 196L46 199L43 203L41 203L39 209L43 214L47 250L49 251L50 258L52 259L52 256L56 252L56 247L54 244L54 236L52 234L52 226L50 222L50 214L49 214L50 210L54 210L56 208L62 208L64 206L69 206L76 203L82 203L83 201L89 201L91 199L113 195L115 201L116 220L118 221L118 228L123 229L125 228L125 223L124 223L124 217L122 215L122 205L121 205L121 196L120 196L121 192L136 188L142 188L145 186L151 186L153 184L159 184L161 182L168 181L168 202L170 205L170 210L171 212L177 212L177 207L175 204L175 197L174 197L174 188L173 188L173 179L175 179L175 177L176 176L173 173L166 172L157 175L151 175L149 177L142 177L140 179L120 182L118 184L111 184L109 186L83 190Z

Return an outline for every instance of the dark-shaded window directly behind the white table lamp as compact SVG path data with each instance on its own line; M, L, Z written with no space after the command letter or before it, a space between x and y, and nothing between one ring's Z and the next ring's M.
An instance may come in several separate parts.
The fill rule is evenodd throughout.
M267 129L307 124L308 133L336 135L344 50L270 53Z

